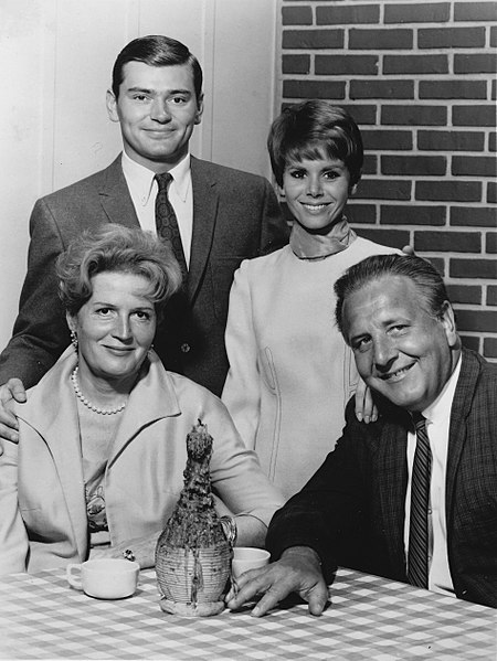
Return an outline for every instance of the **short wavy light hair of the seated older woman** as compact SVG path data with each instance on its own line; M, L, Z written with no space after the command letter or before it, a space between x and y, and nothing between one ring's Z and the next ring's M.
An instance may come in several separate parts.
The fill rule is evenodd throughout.
M169 246L149 232L110 224L84 232L59 256L59 295L70 314L89 300L92 278L105 271L145 277L158 312L181 287L181 269Z

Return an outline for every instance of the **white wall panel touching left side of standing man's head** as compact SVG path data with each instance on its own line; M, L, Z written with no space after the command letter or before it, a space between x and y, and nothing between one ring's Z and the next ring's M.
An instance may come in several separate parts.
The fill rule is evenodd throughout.
M136 14L134 4L57 2L53 190L102 170L120 151L119 128L107 118L105 93L117 53L135 36L129 36L128 22Z

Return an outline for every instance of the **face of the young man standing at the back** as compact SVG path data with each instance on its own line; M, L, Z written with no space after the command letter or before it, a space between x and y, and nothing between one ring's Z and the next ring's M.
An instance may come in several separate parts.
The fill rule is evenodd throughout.
M154 172L163 172L165 164L170 169L184 158L202 109L188 64L127 62L118 98L107 92L108 115L120 122L126 153Z

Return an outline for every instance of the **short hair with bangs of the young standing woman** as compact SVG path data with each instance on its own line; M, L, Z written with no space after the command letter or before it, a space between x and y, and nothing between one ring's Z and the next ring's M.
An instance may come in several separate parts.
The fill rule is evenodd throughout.
M316 160L324 156L345 163L350 172L350 185L361 178L361 132L343 108L327 100L313 99L285 108L273 121L267 149L279 186L283 186L283 173L289 161Z

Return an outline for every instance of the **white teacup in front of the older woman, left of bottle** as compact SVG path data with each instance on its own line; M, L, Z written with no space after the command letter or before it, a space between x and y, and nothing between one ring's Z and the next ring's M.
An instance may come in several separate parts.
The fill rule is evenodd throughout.
M138 585L138 563L103 557L88 559L66 568L70 585L97 599L123 599L135 594Z

